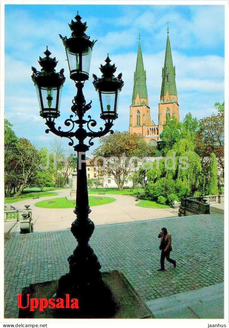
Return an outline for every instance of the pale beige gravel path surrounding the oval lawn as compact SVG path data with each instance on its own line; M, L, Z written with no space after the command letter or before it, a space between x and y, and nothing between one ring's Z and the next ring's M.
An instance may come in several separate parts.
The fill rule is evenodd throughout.
M70 189L55 190L53 192L58 193L58 195L41 197L39 199L26 199L11 203L11 205L16 208L24 208L24 205L30 205L32 210L34 232L69 229L75 219L73 208L50 209L36 207L34 205L41 200L68 196ZM89 195L98 196L97 194ZM134 222L178 216L178 209L153 209L135 206L137 202L133 196L109 194L102 196L115 198L115 201L110 204L91 207L92 212L89 217L95 225Z

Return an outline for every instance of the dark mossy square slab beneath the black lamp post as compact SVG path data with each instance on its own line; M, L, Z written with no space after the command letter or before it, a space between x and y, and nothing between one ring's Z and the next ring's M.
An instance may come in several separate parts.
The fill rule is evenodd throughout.
M145 302L141 299L129 281L119 271L109 271L102 273L102 279L112 293L112 297L116 304L116 313L111 319L143 319L143 318L155 318L153 313L147 307ZM37 284L31 284L29 287L25 287L22 290L22 294L30 294L30 298L54 298L55 292L58 287L58 280L47 281ZM90 306L88 304L89 313ZM80 309L80 300L79 300ZM79 316L78 309L73 309L74 318L82 318ZM78 312L77 312L78 311ZM39 311L38 308L34 309L34 312L30 312L29 308L20 309L18 318L56 318L56 310L45 308L44 311ZM67 317L66 317L67 318ZM73 317L71 317L73 318ZM90 317L88 317L90 318ZM104 314L103 318L107 318Z

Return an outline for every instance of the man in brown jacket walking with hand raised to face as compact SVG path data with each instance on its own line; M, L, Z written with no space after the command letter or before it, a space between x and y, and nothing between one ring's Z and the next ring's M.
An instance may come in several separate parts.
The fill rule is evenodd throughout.
M161 258L160 258L160 264L161 268L157 271L164 271L165 270L165 257L166 260L170 263L173 263L174 268L176 268L176 261L169 257L170 252L172 251L172 237L167 232L166 228L161 228L161 232L158 235L158 238L161 238L159 249L161 250Z

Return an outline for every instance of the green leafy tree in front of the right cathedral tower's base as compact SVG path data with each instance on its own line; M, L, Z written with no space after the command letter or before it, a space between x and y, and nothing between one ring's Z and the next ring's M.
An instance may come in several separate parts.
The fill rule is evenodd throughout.
M181 123L179 123L175 116L170 116L163 125L161 134L162 144L161 152L166 154L168 150L173 148L173 145L181 139Z

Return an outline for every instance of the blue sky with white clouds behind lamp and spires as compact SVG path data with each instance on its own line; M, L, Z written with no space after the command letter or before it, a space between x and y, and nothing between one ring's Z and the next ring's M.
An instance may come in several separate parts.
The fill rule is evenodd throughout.
M120 2L119 2L120 3ZM152 2L153 3L153 2ZM185 3L185 2L183 2ZM37 70L39 56L44 57L46 46L56 57L56 71L64 68L66 81L60 103L61 116L56 126L64 125L69 118L72 99L77 90L69 78L66 53L59 34L71 35L68 23L79 11L82 22L87 21L87 35L98 40L92 51L90 78L83 92L86 102L92 100L87 112L97 121L94 131L104 122L99 118L97 92L92 84L92 74L101 76L98 67L105 64L109 53L111 64L122 72L124 86L120 93L118 114L114 130L129 129L134 71L136 66L138 33L146 84L151 108L151 119L158 123L161 69L164 64L169 21L169 37L176 66L176 85L180 121L188 112L201 119L210 116L216 102L224 100L224 6L223 5L5 5L5 118L13 125L18 137L25 137L37 149L47 147L58 138L45 133L45 120L39 116L38 99L31 80L31 66ZM87 117L87 116L86 116ZM65 151L69 152L69 139L63 138ZM99 145L94 146L89 154Z

